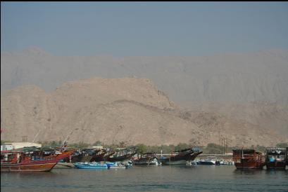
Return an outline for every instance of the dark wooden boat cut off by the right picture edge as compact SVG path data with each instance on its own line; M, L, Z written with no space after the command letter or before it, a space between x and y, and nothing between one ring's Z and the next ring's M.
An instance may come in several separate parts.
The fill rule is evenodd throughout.
M266 149L265 165L268 170L284 170L287 165L287 150L284 148Z

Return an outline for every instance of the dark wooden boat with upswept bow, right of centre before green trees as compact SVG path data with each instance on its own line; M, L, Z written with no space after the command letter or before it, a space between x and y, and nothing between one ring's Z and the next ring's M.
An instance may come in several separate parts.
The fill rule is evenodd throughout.
M160 162L164 165L186 165L187 161L193 161L196 156L202 151L194 151L193 149L183 149L180 151L173 151L168 157L161 157Z

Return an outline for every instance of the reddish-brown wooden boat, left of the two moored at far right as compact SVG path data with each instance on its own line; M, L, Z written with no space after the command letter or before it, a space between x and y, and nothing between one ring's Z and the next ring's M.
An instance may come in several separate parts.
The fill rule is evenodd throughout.
M237 169L263 169L265 157L254 149L234 149L233 161Z

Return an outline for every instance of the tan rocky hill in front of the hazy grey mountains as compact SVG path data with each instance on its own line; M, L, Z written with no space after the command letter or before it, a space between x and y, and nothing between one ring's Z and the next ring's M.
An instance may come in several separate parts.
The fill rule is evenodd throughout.
M146 78L89 78L52 92L23 85L1 96L1 139L104 144L272 145L275 132L203 111L183 111Z

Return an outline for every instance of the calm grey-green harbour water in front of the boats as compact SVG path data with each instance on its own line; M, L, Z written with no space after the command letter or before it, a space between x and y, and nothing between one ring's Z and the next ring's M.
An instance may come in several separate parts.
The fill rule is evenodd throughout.
M1 191L288 191L288 171L193 165L1 172Z

